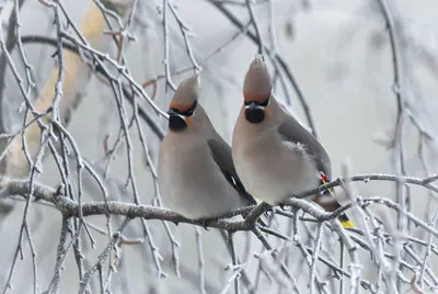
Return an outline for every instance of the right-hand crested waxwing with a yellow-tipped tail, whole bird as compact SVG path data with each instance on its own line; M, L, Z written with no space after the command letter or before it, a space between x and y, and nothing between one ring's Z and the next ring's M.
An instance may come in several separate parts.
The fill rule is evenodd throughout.
M238 174L257 199L270 205L328 182L327 152L272 93L272 80L263 56L252 61L243 84L244 104L234 126L232 157ZM330 193L332 195L333 191ZM337 201L331 207L341 205ZM353 223L343 214L344 227Z

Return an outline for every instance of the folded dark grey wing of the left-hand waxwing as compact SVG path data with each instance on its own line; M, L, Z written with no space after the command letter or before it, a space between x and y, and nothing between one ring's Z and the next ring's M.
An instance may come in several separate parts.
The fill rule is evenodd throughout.
M257 204L254 197L246 192L234 168L231 155L231 147L217 135L208 140L208 146L211 150L212 158L222 171L227 181L239 192L241 196L246 199L250 204Z

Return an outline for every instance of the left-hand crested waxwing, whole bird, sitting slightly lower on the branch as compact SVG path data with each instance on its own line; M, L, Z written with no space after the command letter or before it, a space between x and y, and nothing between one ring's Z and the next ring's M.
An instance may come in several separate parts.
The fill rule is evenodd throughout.
M255 204L234 169L231 147L198 103L198 76L181 82L170 103L158 181L166 207L192 219Z

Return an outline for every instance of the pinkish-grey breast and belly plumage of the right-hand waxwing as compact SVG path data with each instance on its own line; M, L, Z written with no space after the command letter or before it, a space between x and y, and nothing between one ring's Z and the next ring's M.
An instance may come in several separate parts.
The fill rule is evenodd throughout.
M316 188L320 179L318 167L323 163L318 160L321 157L318 144L309 147L313 140L301 132L298 134L302 136L291 136L290 132L295 134L301 126L279 108L273 97L268 110L268 117L263 123L251 124L246 122L242 108L234 127L232 155L247 191L257 199L276 204L287 196ZM290 125L293 127L289 128Z

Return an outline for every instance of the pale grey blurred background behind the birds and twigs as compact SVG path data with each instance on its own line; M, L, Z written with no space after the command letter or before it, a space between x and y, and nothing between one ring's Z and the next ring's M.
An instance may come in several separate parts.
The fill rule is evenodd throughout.
M383 0L382 0L383 1ZM265 54L272 76L276 79L274 92L287 105L287 109L309 126L302 103L299 100L287 71L280 66L278 58L284 60L293 75L309 106L319 139L327 149L332 158L333 176L354 176L362 173L405 173L410 177L424 178L437 172L437 142L438 136L438 4L435 1L383 1L390 12L396 41L397 67L394 72L393 50L390 45L390 34L387 20L380 1L343 1L343 0L254 0L250 1L253 9L262 41L266 46ZM47 4L47 3L46 3ZM99 5L112 8L105 1L62 1L62 9L89 41L90 46L107 53L108 58L126 63L128 75L132 81L141 86L153 102L163 111L166 110L172 98L172 87L166 86L165 63L169 66L169 82L177 86L183 78L195 72L195 65L200 70L201 92L200 103L205 106L210 120L227 142L231 144L233 125L242 104L242 83L244 74L257 53L257 42L251 39L246 33L255 34L251 22L247 3L243 0L214 1L214 0L184 0L184 1L135 1L135 13L131 14L132 2L116 2L116 12L120 15L120 24L111 19L114 29L105 22L101 23L102 12ZM163 9L163 4L169 4ZM25 36L45 36L56 41L55 9L44 4L44 1L2 1L1 24L3 42L11 32L14 7L20 5L20 34ZM221 10L232 13L235 20L247 29L241 30L230 21L229 15ZM59 9L59 11L61 11ZM94 13L94 14L93 14ZM99 14L101 13L101 14ZM163 25L163 14L165 25ZM65 14L59 12L62 31L74 36L74 27L68 24ZM129 24L126 27L126 24ZM168 31L165 33L165 30ZM107 32L126 31L120 46L112 38L119 38L120 34L108 35ZM183 29L182 29L183 27ZM390 26L391 27L391 26ZM106 32L106 34L105 34ZM164 33L166 38L164 38ZM132 38L130 38L132 36ZM186 39L185 39L186 37ZM189 44L189 54L187 54ZM169 54L165 52L169 49ZM56 44L42 44L26 41L23 50L30 65L35 87L28 91L28 98L34 105L43 105L39 101L53 103L55 80L50 82L50 75L57 72ZM2 66L3 84L1 86L1 124L0 133L11 134L23 126L25 104L16 78L11 67L4 65L4 52L0 61ZM20 49L15 46L10 49L18 74L25 80L26 72L23 66ZM76 57L73 57L76 56ZM110 156L119 136L123 137L122 118L117 106L117 99L107 79L95 74L78 54L65 54L66 76L72 76L71 82L64 84L61 98L61 118L71 136L74 138L81 155L103 180L112 200L132 202L131 184L126 185L129 177L128 148L123 143ZM69 59L70 58L70 59ZM74 59L76 58L76 59ZM90 59L90 54L83 58ZM276 59L277 58L277 59ZM120 61L124 59L124 61ZM274 60L274 63L273 63ZM110 61L103 61L111 75L120 79L124 84L129 81ZM276 74L276 67L279 72ZM55 71L54 71L55 70ZM183 72L181 72L183 71ZM394 74L400 77L400 84L394 86ZM55 76L56 77L56 76ZM67 79L66 79L67 80ZM155 91L153 84L157 86ZM47 88L48 87L48 88ZM68 88L66 88L68 87ZM128 87L129 89L129 87ZM51 93L51 95L50 95ZM401 95L403 112L401 123L397 124L397 93ZM123 99L120 99L123 100ZM166 120L157 115L143 97L137 94L138 105L146 111L161 129L165 131ZM39 103L39 104L38 104ZM62 104L64 103L64 104ZM125 100L123 106L126 120L130 121L132 106ZM39 109L39 111L42 111ZM67 120L68 118L68 120ZM67 120L67 121L66 121ZM157 163L160 138L145 120L139 120L143 129L146 145L152 163ZM397 127L399 126L399 127ZM30 131L32 132L32 131ZM37 132L37 131L36 131ZM39 135L39 133L37 133ZM148 167L148 160L139 139L137 127L129 132L132 151L132 172L141 204L152 204L155 196L155 183ZM27 135L30 138L30 135ZM401 144L397 145L397 142ZM39 140L37 140L39 144ZM36 144L36 145L38 145ZM35 145L35 146L36 146ZM21 148L11 145L11 148ZM30 145L32 149L32 144ZM402 157L400 149L402 146ZM37 148L31 150L35 156ZM71 148L70 148L71 151ZM70 152L71 154L71 152ZM27 178L28 168L21 168L23 159L14 162L5 155L3 163L9 160L10 167L3 170L3 176ZM23 157L23 155L22 155ZM11 163L12 162L12 163ZM25 162L25 161L23 161ZM57 188L62 178L56 161L49 151L46 151L41 166L41 173L36 180L41 183ZM77 189L76 158L69 160L71 181ZM25 165L26 166L26 162ZM348 167L348 173L342 167ZM18 167L18 168L16 168ZM110 168L108 168L110 167ZM402 168L401 168L402 167ZM355 183L355 192L362 196L382 196L395 200L394 182ZM102 201L102 193L96 182L88 172L83 172L83 201ZM339 191L341 192L341 191ZM430 222L436 212L436 195L431 195L423 186L413 186L408 190L410 211L426 223ZM342 201L342 193L338 193ZM23 222L25 202L19 197L4 200L11 205L11 211L0 217L0 289L7 285L13 257L19 242L19 234ZM9 211L9 208L8 208ZM379 212L387 231L395 228L396 218L391 213ZM355 219L355 215L351 215ZM99 255L108 244L106 236L105 216L87 218L90 223L102 228L103 233L92 229L96 240L95 248L91 247L87 234L81 234L81 249L84 257L84 271L88 271L97 260ZM114 216L112 227L115 231L122 218ZM62 217L54 207L32 204L28 213L32 238L37 252L37 279L39 291L46 291L54 276L57 246L59 242ZM289 220L279 219L278 230L288 230ZM138 241L120 246L120 260L117 272L112 274L112 285L105 293L197 293L201 292L201 272L205 278L206 293L220 293L232 275L226 270L231 263L226 244L216 229L200 229L196 235L193 226L169 224L169 229L181 245L173 248L165 227L159 220L148 220L152 241L145 236L141 220L135 219L127 227L124 235ZM313 246L314 240L306 237L315 234L315 226L301 228L303 242ZM330 235L328 230L324 234ZM412 226L406 236L428 240L424 230ZM287 234L289 235L289 234ZM272 245L286 246L278 238L269 237ZM199 259L199 241L201 241L203 259ZM335 237L326 237L324 242L332 242L333 256L338 255L338 245ZM166 279L158 278L157 252L150 249L150 244L157 247L162 260L159 262ZM237 233L234 244L238 253L251 260L254 252L261 252L260 241L246 233ZM327 245L328 251L331 250ZM176 278L174 252L177 250L177 261L182 278ZM24 260L16 261L12 275L12 289L4 293L34 293L31 251L27 241L23 241ZM77 293L79 276L73 249L69 249L66 263L61 272L61 293ZM74 248L76 250L76 248ZM299 250L293 246L286 246L281 251L287 256L290 272L297 278L302 293L308 293L309 267L306 265ZM417 248L418 256L424 256L425 247ZM113 259L115 256L113 256ZM376 280L376 270L369 252L361 252L362 278ZM253 258L254 259L254 258ZM258 289L253 293L290 293L281 274L267 256L262 259L263 273L260 275ZM406 258L413 268L416 263L412 257ZM431 259L435 260L435 259ZM258 278L258 259L250 262L247 275L254 281ZM338 259L337 259L338 261ZM345 261L348 264L349 261ZM434 264L433 261L428 261ZM321 265L323 267L323 265ZM431 271L436 267L430 265ZM105 263L104 274L110 274L108 263ZM419 265L418 265L419 269ZM338 291L338 280L321 268L322 280L328 281L330 290ZM410 281L415 271L404 271L407 282L404 290L410 290ZM273 278L274 276L274 278ZM431 285L436 281L430 278ZM346 282L348 283L348 281ZM97 273L90 280L91 293L100 292ZM426 286L425 286L426 289ZM427 287L426 292L434 292ZM388 290L388 289L387 289ZM227 293L233 293L229 287ZM367 292L364 290L364 292ZM242 293L249 293L242 286ZM309 292L310 293L310 292ZM384 293L391 293L385 292Z

